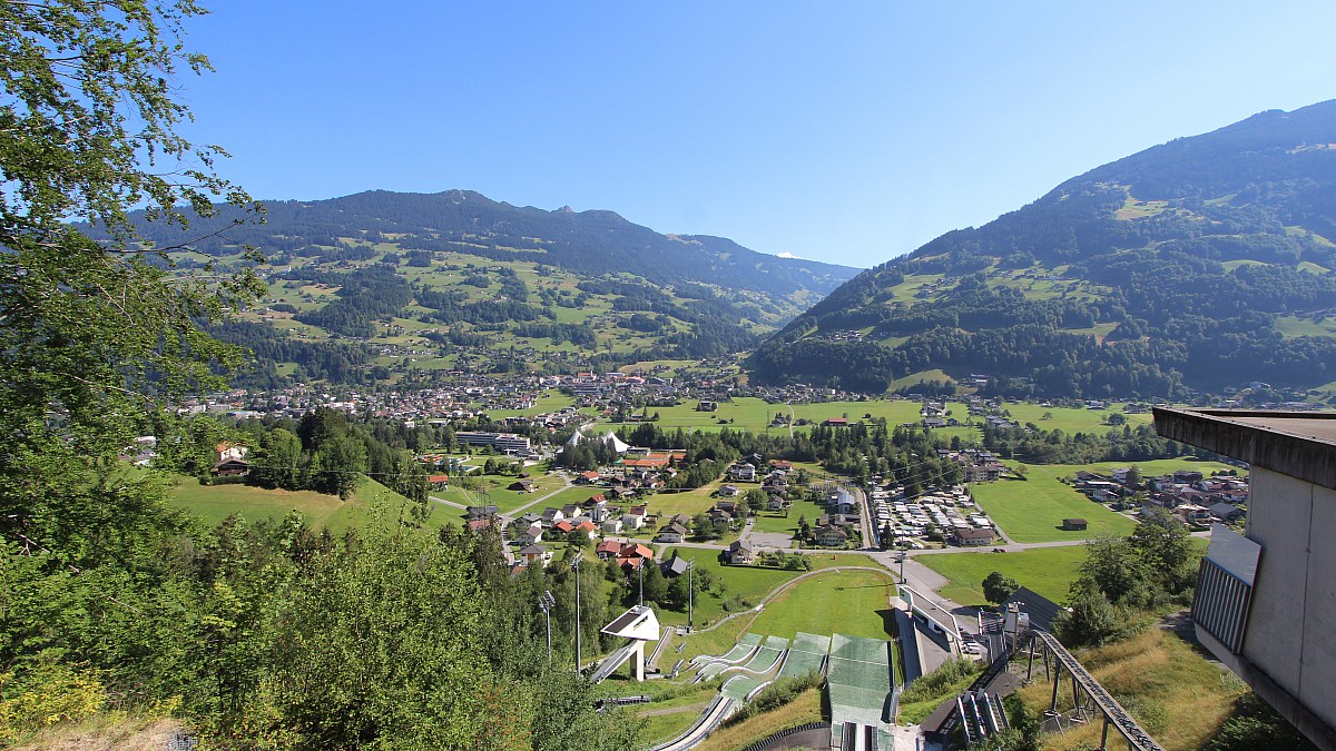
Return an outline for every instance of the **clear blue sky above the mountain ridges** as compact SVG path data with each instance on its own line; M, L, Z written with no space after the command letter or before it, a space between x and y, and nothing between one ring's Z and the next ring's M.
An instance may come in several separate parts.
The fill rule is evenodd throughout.
M214 0L187 130L257 198L477 190L872 266L1336 98L1336 3Z

